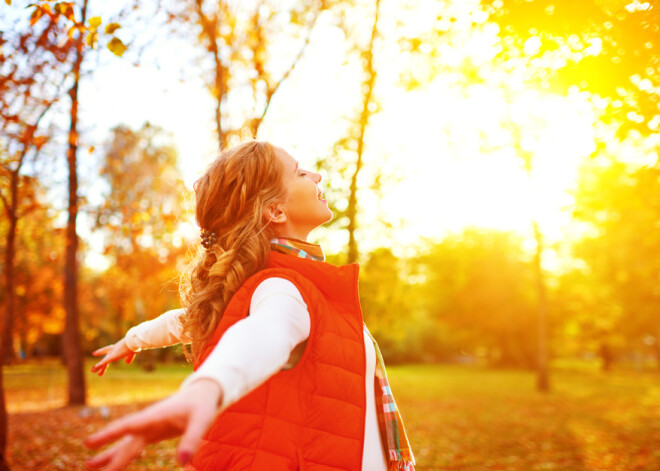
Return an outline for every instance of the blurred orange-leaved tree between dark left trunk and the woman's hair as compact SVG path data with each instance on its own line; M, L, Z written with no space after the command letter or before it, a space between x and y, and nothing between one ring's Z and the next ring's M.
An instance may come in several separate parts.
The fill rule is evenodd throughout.
M105 146L101 179L107 184L97 208L111 265L104 290L114 311L115 338L132 324L177 304L176 290L160 296L176 278L185 251L178 234L186 211L186 187L170 136L146 123L138 131L116 126ZM139 283L136 283L139 280Z

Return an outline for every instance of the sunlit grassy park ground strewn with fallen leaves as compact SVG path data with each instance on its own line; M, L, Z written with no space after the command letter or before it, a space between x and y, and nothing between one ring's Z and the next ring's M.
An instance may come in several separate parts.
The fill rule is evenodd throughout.
M85 436L172 393L189 371L121 365L88 375L90 409L62 407L66 376L57 364L6 368L10 464L83 469ZM660 470L658 373L555 369L548 394L535 391L526 371L414 365L388 374L418 471ZM151 447L130 469L179 469L175 445Z

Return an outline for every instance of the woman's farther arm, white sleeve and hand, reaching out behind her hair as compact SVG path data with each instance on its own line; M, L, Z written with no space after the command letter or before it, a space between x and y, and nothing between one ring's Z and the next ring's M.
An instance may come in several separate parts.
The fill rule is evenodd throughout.
M132 327L126 332L126 336L117 343L94 351L92 353L94 356L105 356L92 367L92 373L102 376L110 363L122 358L126 363L131 363L135 358L135 353L143 349L188 343L189 340L183 335L183 327L179 322L180 316L184 313L184 309L167 311L155 319Z

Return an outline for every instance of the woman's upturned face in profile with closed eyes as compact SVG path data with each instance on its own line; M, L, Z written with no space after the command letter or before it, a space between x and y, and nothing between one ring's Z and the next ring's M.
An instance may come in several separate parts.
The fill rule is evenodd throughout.
M299 168L287 151L275 147L275 155L284 168L283 184L287 198L272 222L280 237L306 240L309 232L332 219L332 211L317 186L321 175Z

